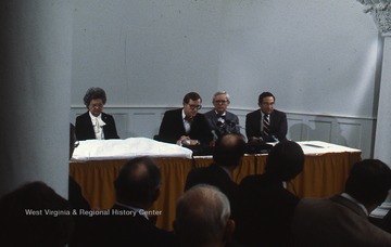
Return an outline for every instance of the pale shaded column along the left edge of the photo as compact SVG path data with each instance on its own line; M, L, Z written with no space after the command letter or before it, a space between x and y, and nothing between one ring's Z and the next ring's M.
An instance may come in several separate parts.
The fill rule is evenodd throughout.
M39 180L67 197L72 1L1 1L0 16L0 195Z

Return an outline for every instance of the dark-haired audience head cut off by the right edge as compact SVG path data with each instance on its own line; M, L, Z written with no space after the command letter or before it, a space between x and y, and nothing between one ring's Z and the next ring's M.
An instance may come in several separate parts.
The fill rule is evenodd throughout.
M378 159L354 164L345 184L345 193L371 209L384 202L390 188L391 170Z

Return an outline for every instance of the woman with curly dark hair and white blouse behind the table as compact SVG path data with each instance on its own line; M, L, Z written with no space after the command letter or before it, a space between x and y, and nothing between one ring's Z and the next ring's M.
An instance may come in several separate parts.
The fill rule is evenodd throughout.
M112 115L103 113L106 95L101 88L89 88L84 96L88 112L76 117L76 138L78 141L90 139L119 139Z

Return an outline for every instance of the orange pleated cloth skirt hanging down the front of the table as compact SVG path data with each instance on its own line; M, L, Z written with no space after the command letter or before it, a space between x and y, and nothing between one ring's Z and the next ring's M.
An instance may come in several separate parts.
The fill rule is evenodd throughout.
M247 155L234 170L232 179L239 183L244 177L263 173L267 155ZM304 170L288 184L299 197L327 197L343 190L352 165L361 159L361 152L306 154ZM162 212L156 225L173 230L177 198L184 193L188 172L193 167L211 164L212 157L157 157L162 172L162 192L153 209ZM70 162L70 174L80 185L83 195L93 209L108 209L115 202L114 180L126 159Z

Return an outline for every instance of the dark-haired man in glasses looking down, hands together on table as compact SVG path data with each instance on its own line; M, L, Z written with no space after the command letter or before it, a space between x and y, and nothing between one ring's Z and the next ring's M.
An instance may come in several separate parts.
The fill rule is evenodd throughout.
M212 132L201 109L202 99L197 92L189 92L184 98L184 107L164 113L164 117L155 138L162 142L178 145L209 145Z

